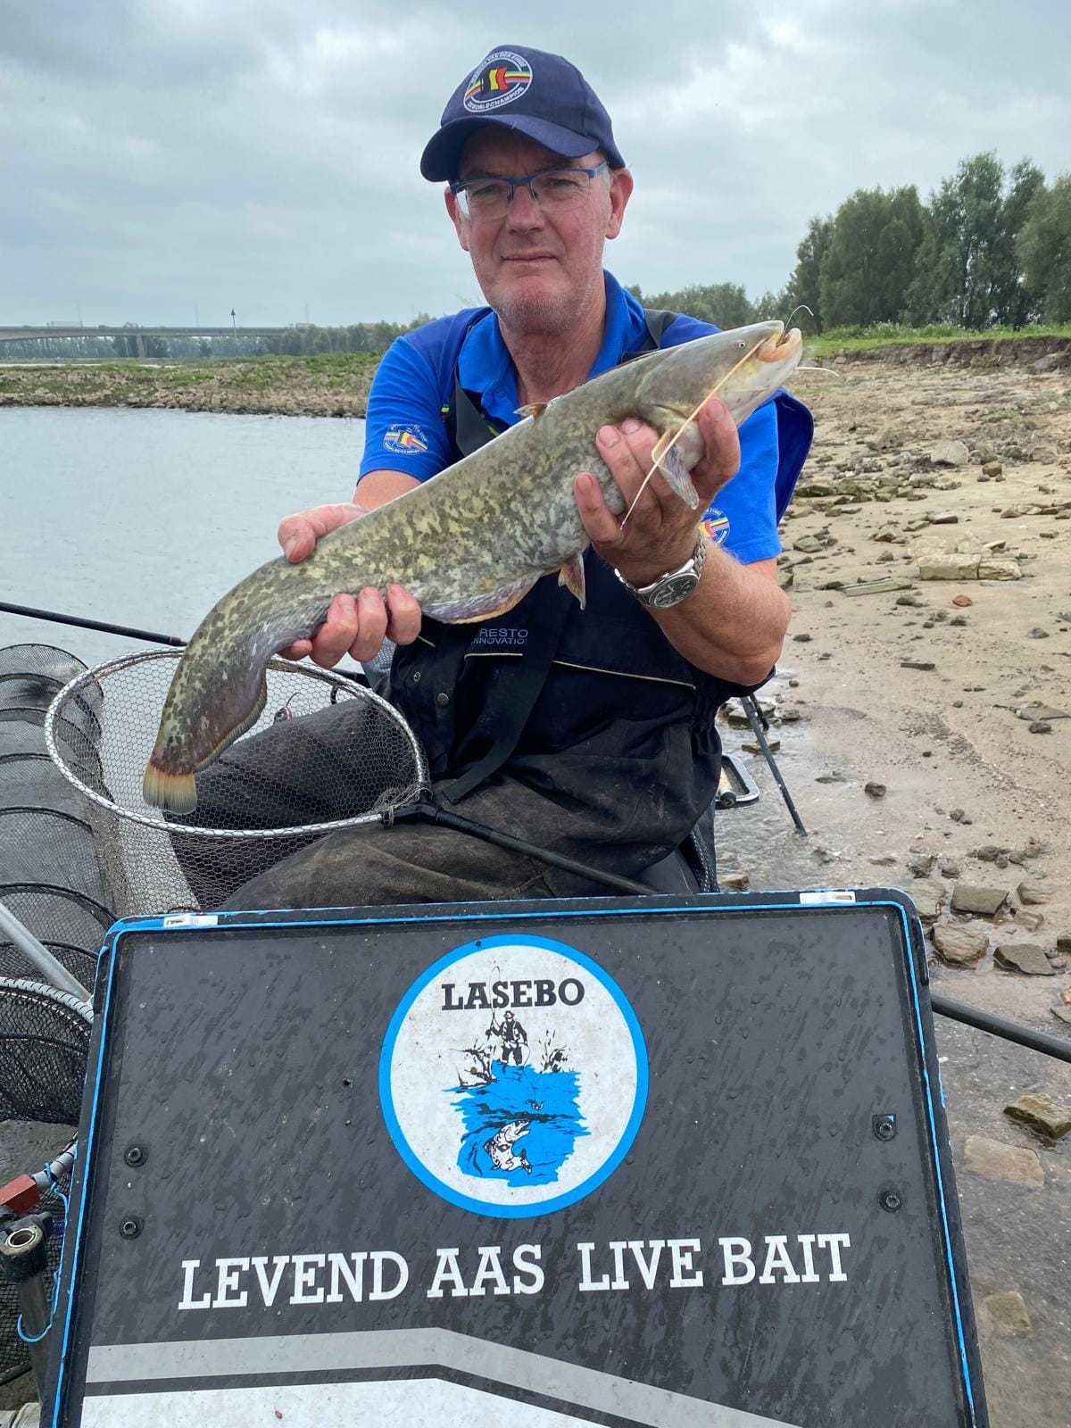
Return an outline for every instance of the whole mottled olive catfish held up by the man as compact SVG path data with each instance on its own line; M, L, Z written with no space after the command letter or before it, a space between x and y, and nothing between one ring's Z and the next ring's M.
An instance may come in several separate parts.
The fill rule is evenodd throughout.
M523 418L438 476L324 536L300 564L270 560L204 617L171 680L146 765L147 804L197 807L196 774L256 724L268 660L310 638L340 591L393 584L446 623L504 614L547 574L584 604L587 533L573 496L580 471L607 506L624 500L595 446L600 427L640 417L658 433L654 466L693 510L691 467L703 456L695 416L717 393L740 426L800 361L803 338L754 323L664 347L593 377ZM653 468L654 470L654 468Z

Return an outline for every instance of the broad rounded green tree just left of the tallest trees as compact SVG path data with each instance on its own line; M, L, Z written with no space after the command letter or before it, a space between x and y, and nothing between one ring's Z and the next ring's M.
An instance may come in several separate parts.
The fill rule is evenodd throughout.
M900 321L922 241L922 204L914 186L857 188L833 220L818 268L824 327Z

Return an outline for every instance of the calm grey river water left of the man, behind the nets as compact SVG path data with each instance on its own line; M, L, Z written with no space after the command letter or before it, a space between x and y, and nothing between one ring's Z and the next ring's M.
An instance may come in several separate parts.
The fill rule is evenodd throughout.
M0 600L188 638L283 516L350 500L363 448L358 420L0 408ZM27 640L146 648L0 613L0 645Z

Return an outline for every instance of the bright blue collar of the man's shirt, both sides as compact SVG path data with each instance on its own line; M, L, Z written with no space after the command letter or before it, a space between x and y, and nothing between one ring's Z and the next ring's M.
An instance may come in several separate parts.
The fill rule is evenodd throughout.
M625 291L613 273L603 273L605 283L605 327L598 354L588 377L617 367L621 358L643 347L647 320L643 304ZM503 341L498 318L493 311L470 330L457 360L461 386L480 398L484 414L498 426L518 421L517 373Z

